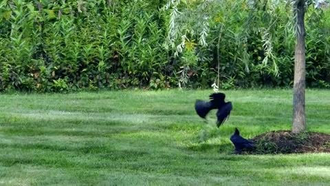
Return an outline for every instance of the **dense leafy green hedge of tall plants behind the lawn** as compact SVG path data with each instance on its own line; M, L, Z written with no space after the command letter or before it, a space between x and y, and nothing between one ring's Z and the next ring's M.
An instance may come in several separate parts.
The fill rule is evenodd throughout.
M292 85L295 40L285 6L251 11L243 0L223 0L208 9L208 46L189 32L175 56L166 2L1 1L0 91L210 87L218 60L222 88ZM310 87L330 86L329 16L310 10L306 19Z

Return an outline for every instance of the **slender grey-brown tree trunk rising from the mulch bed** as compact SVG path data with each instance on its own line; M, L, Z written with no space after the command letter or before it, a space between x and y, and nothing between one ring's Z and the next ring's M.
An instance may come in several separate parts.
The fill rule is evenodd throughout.
M294 116L292 132L306 130L305 118L305 0L296 0L297 43L294 54Z

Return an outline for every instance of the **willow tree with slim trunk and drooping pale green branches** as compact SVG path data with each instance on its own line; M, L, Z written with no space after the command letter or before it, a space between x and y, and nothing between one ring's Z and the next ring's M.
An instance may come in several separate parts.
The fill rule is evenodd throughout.
M186 41L186 33L195 34L199 37L200 45L208 45L206 42L206 36L208 34L208 17L217 6L221 6L224 3L245 3L250 7L250 18L258 17L262 12L267 11L267 6L277 6L280 3L286 3L287 7L292 6L292 17L287 25L292 28L289 29L291 34L296 37L296 47L294 54L294 100L293 100L293 119L292 119L292 132L303 132L306 129L305 119L305 7L307 6L305 0L287 0L287 1L272 1L272 0L246 0L246 1L225 1L225 0L168 0L166 6L167 9L171 9L170 21L168 26L168 44L172 46L178 54L184 50ZM195 6L193 6L195 4ZM211 11L211 12L210 12ZM219 11L219 10L218 10ZM258 13L255 13L258 12ZM259 14L261 12L261 14ZM274 11L275 12L275 11ZM273 13L273 12L270 12ZM263 18L259 19L262 21ZM276 20L274 20L274 23ZM263 63L269 65L268 61L272 61L272 41L270 36L270 28L274 23L265 25L265 28L257 28L263 31L263 45L265 50L265 59ZM221 23L219 23L221 24ZM219 29L222 29L222 25ZM247 28L251 29L251 28ZM255 29L255 28L254 28ZM248 32L248 30L245 30ZM181 34L181 35L180 35ZM181 39L179 37L181 36ZM175 41L180 40L175 45ZM221 34L214 40L221 40ZM218 42L219 48L219 42ZM278 67L276 61L273 61L274 73L278 73ZM219 85L219 61L218 61L218 85Z

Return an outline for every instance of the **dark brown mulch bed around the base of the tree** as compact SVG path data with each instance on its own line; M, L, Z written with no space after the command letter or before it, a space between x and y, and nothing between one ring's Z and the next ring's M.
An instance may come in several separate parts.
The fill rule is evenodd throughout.
M319 132L293 134L280 130L261 134L252 138L256 149L248 154L290 154L330 152L330 135Z

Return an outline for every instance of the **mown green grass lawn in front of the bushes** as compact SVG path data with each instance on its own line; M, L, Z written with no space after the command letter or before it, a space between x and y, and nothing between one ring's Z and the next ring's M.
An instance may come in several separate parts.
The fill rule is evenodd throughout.
M225 91L234 109L195 114L203 91L0 95L0 185L330 185L330 154L234 155L290 130L292 90ZM307 90L309 131L330 133L330 91Z

